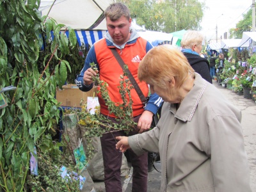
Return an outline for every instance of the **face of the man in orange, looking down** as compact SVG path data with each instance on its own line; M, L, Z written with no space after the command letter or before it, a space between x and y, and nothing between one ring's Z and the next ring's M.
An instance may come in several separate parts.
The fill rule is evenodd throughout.
M108 33L116 45L122 45L129 40L131 20L131 18L127 20L122 16L116 21L111 21L109 17L106 17Z

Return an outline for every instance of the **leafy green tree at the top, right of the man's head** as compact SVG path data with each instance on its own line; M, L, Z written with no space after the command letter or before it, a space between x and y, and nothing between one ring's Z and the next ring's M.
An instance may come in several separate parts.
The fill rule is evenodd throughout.
M182 29L200 30L205 3L198 0L120 0L139 25L150 31L172 33Z

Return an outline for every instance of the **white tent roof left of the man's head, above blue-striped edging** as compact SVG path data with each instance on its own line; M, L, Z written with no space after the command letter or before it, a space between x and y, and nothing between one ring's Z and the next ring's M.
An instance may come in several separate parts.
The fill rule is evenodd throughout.
M39 10L47 15L54 0L41 0ZM72 29L106 30L104 10L115 0L56 0L49 17Z

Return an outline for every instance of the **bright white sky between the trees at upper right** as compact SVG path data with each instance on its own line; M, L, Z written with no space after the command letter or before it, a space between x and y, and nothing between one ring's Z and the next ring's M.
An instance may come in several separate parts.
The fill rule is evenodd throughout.
M206 36L207 41L216 40L216 26L218 38L235 28L237 22L243 19L243 14L248 12L252 6L252 0L199 0L205 2L207 8L201 22L201 33Z

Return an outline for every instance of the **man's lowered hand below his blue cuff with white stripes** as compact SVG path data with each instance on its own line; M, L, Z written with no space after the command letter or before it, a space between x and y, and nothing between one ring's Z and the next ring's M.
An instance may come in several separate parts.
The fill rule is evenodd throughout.
M141 117L140 117L138 125L137 125L139 133L148 131L148 129L150 129L153 115L154 114L151 111L147 111L147 110L145 110L141 114Z

